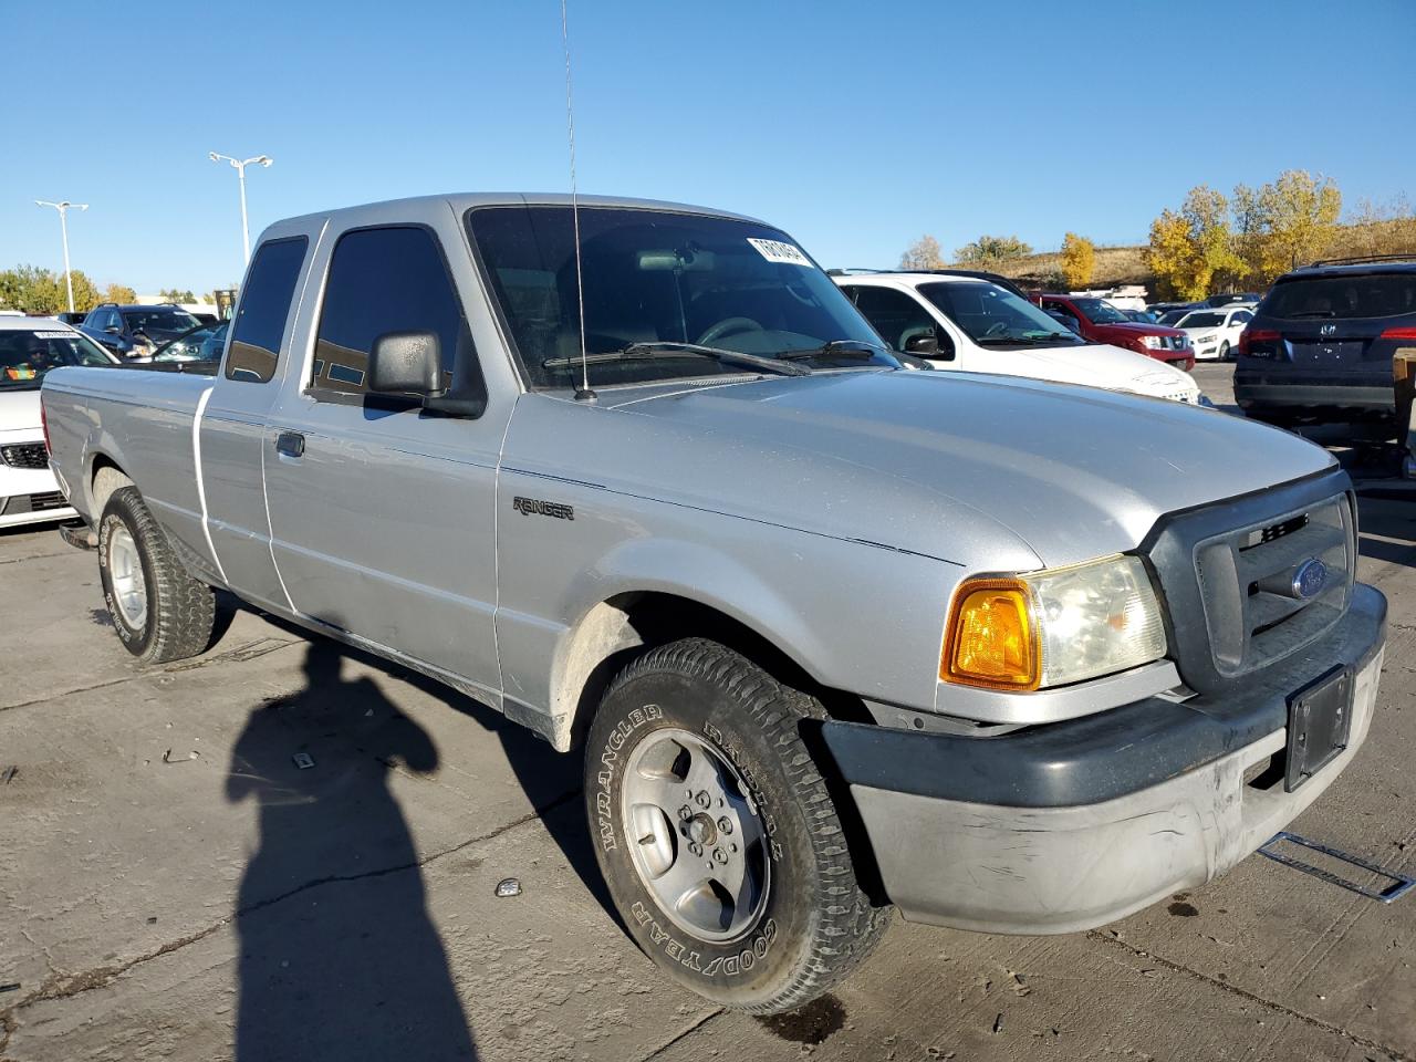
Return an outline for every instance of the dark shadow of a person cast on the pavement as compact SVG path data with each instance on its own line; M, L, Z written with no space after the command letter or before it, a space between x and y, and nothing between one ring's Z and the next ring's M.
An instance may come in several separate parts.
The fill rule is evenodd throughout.
M259 847L235 919L238 1062L474 1059L418 851L388 787L396 767L432 772L429 735L340 650L306 651L306 687L251 712L227 797L253 800ZM357 753L340 755L353 742ZM302 767L292 753L313 748Z

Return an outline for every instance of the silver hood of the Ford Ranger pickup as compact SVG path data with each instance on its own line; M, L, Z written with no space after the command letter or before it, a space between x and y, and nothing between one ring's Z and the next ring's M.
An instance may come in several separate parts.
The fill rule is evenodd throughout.
M524 395L503 462L974 571L1134 549L1164 513L1334 463L1181 402L905 371Z

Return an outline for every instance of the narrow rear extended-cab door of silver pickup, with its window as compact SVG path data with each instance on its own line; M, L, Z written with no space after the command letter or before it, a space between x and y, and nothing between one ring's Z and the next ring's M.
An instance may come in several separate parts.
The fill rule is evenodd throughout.
M221 377L198 405L198 470L207 534L227 585L256 603L289 607L266 521L261 469L265 426L280 388L276 372L287 348L290 307L299 290L309 238L266 239L251 261Z

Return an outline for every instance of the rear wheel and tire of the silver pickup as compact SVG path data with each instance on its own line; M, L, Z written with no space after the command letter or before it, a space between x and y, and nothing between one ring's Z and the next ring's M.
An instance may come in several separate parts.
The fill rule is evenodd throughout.
M173 555L137 487L115 490L98 523L103 600L119 641L144 664L205 651L217 598Z

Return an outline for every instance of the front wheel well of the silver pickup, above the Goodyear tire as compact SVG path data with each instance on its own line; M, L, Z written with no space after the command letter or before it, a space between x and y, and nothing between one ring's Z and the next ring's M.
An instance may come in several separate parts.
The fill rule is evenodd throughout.
M858 697L823 687L790 654L742 620L674 593L623 593L586 613L565 653L554 709L569 724L564 748L581 745L606 687L634 656L685 637L711 639L741 653L783 685L816 697L833 719L871 719Z

